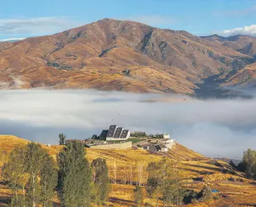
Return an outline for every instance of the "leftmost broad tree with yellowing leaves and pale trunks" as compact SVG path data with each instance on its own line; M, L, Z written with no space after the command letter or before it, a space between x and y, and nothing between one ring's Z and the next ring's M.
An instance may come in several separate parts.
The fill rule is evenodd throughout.
M51 160L51 162L47 160ZM52 170L48 171L46 168ZM47 190L53 192L56 186L56 176L53 176L53 160L41 148L41 145L31 142L23 147L15 148L11 152L8 163L4 165L2 175L14 190L12 206L35 207L40 204L50 206L53 193L47 196L48 205L44 205L41 200L41 196L44 195L42 181L44 183L51 182Z

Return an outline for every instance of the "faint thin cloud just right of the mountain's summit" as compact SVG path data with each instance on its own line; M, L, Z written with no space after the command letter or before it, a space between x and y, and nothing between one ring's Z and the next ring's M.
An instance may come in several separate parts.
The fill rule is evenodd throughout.
M142 15L134 17L124 17L122 19L135 21L139 23L145 23L151 26L169 25L175 23L175 20L172 17L164 17L159 15Z

